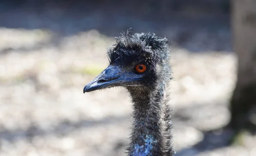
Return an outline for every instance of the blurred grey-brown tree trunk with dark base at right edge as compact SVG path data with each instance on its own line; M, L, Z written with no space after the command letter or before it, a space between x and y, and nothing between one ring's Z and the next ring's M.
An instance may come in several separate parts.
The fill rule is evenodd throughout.
M256 108L256 0L232 0L231 3L233 48L239 61L229 125L234 130L252 130L256 120L251 116Z

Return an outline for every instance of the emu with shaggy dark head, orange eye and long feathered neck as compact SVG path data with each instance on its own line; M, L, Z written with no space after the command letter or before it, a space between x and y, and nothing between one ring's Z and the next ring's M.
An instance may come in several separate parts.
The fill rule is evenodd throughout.
M125 87L133 103L128 156L174 156L168 84L172 79L169 45L153 33L129 31L108 49L109 66L84 87L85 92Z

